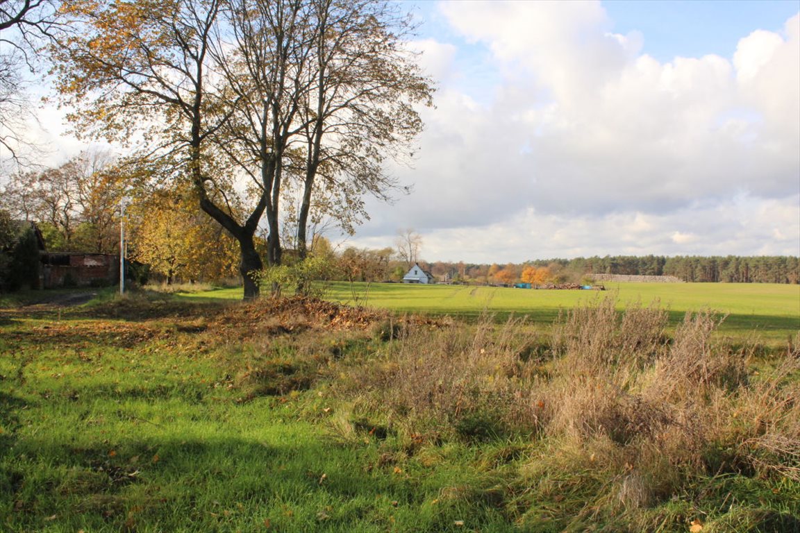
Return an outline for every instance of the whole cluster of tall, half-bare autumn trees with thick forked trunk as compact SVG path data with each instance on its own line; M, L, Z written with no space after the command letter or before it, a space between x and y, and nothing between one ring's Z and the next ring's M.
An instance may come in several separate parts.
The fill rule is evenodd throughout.
M146 157L176 163L170 176L193 184L199 207L238 241L250 298L264 215L267 261L281 262L287 191L302 190L304 256L314 194L347 227L362 193L386 196L394 186L383 157L403 153L422 125L413 104L430 103L430 86L402 50L409 26L396 8L386 0L74 0L66 7L74 34L54 48L58 88L76 106L79 130L138 139ZM293 180L302 185L287 186ZM241 217L220 201L237 192L249 198Z

